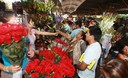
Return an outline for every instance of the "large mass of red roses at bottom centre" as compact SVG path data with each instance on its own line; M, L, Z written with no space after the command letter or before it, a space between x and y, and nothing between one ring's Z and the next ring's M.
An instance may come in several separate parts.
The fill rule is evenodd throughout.
M26 67L30 78L73 78L75 68L72 60L62 48L40 51L39 58Z

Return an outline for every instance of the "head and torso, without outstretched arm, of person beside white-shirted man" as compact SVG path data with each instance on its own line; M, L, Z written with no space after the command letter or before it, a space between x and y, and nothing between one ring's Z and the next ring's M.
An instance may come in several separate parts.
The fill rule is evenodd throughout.
M74 40L72 41L73 46L73 64L76 65L79 63L80 56L84 53L86 49L86 42L85 42L85 32L80 31Z

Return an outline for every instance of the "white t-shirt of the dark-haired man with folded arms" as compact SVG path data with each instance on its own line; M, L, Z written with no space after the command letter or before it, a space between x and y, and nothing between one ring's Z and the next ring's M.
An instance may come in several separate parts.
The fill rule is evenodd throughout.
M78 71L80 78L95 78L95 69L98 63L98 59L101 55L101 46L98 42L90 44L85 52L82 61L84 61L89 66L93 63L92 67L89 66L84 70Z

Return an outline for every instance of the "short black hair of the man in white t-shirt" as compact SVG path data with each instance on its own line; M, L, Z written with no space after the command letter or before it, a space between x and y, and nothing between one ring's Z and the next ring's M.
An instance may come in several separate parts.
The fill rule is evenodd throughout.
M99 41L102 36L102 31L98 26L91 26L89 27L90 35L94 36L96 41Z

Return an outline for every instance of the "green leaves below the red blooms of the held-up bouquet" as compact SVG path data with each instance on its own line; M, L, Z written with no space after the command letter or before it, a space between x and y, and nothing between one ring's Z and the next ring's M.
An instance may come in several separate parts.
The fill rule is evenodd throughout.
M24 55L26 53L25 52L26 47L27 45L26 45L25 37L24 37L24 41L20 41L20 42L13 41L9 45L3 44L1 46L2 52L13 65L21 65Z

